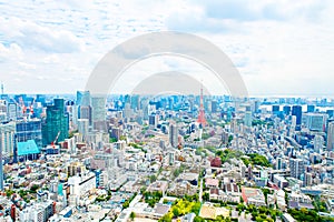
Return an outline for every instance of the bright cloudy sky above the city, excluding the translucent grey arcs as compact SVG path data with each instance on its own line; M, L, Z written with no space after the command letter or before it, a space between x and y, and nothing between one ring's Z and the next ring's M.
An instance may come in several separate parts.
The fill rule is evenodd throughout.
M333 14L332 0L0 0L0 82L6 93L75 93L119 43L180 31L222 49L249 95L334 98ZM134 64L111 92L168 71L226 93L209 70L168 56Z

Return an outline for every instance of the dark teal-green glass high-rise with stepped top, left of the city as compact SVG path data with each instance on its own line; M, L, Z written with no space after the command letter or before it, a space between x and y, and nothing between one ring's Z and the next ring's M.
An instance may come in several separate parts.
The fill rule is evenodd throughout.
M42 123L42 144L51 144L56 139L65 141L68 138L69 118L65 113L63 99L55 99L53 105L47 107L47 118Z

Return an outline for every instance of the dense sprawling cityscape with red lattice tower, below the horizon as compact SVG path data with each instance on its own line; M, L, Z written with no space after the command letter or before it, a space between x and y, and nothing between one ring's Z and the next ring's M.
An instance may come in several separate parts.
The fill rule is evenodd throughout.
M333 114L328 99L2 90L1 221L333 221Z

